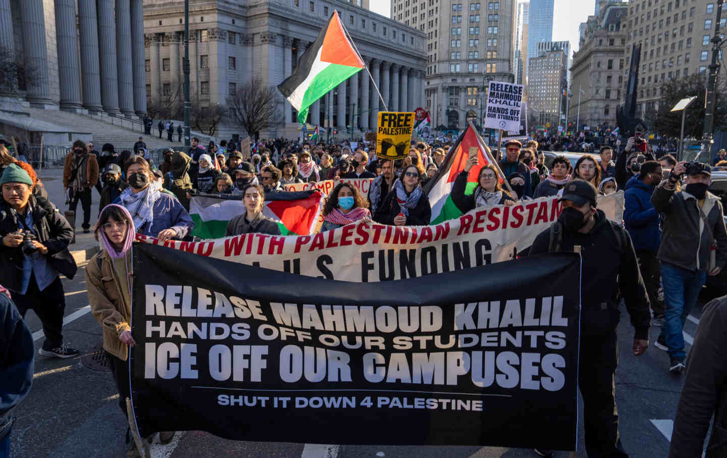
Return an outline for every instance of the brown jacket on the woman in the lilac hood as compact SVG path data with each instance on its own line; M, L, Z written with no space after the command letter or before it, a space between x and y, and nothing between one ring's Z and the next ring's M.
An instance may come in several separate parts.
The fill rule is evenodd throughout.
M103 349L126 361L128 347L119 340L119 334L131 331L132 308L131 304L124 303L121 278L116 275L112 262L106 250L95 254L86 265L86 286L91 312L103 329Z

